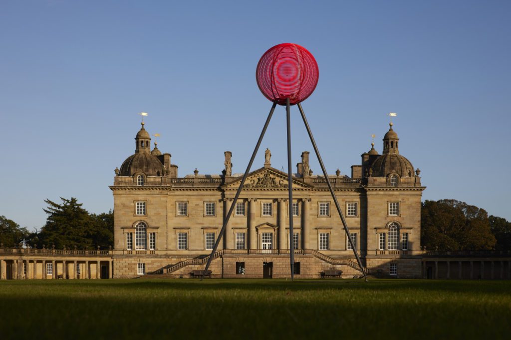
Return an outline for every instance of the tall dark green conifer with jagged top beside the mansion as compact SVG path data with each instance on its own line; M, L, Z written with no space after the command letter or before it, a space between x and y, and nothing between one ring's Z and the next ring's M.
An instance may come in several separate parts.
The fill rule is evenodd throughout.
M34 240L37 246L55 246L58 249L74 248L94 249L97 246L106 248L113 243L113 217L110 228L109 214L91 215L82 203L74 197L60 197L62 204L49 199L43 209L48 214L46 224L41 228ZM113 215L113 214L111 214Z

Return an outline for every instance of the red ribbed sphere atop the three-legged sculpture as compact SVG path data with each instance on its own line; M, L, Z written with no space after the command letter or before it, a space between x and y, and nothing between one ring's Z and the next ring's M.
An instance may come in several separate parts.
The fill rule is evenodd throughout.
M318 83L319 69L314 56L304 47L285 43L268 49L255 70L257 85L264 96L280 105L307 99Z

